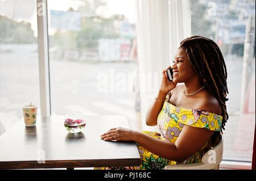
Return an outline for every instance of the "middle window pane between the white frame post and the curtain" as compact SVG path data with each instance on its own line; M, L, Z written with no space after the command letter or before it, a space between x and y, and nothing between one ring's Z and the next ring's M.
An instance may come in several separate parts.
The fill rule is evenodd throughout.
M137 129L130 59L135 1L48 1L52 115L126 115Z

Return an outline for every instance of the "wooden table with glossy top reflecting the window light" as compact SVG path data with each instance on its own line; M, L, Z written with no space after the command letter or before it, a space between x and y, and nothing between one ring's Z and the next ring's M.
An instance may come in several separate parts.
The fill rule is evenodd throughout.
M64 116L38 116L35 127L20 119L0 136L0 169L140 165L135 142L101 140L102 133L115 127L130 128L129 121L119 115L86 116L84 130L71 134Z

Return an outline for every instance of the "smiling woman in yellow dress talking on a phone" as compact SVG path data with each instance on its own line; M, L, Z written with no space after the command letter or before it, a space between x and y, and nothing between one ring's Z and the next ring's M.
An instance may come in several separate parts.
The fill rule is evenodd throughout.
M105 141L137 142L142 164L126 169L163 169L171 164L201 162L220 138L228 120L228 88L226 66L217 44L203 36L181 41L172 69L172 82L167 69L163 70L158 96L146 115L146 124L158 125L160 134L113 128L101 135Z

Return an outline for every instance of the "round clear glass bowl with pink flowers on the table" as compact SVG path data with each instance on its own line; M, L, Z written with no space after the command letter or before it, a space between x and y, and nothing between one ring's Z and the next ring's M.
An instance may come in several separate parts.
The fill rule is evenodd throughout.
M69 133L79 133L85 127L85 115L81 112L68 112L65 115L64 126Z

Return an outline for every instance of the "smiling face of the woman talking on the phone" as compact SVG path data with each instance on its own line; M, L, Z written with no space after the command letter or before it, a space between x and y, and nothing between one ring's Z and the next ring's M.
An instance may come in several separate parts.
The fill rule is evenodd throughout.
M174 56L174 83L191 81L193 78L199 78L189 63L188 55L184 49L179 48Z

